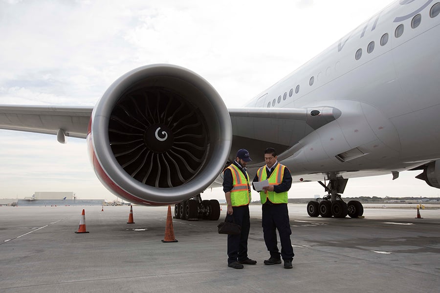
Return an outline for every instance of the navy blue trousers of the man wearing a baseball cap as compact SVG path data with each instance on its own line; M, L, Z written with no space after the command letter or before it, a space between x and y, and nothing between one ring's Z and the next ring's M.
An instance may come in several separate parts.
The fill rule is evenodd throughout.
M232 215L227 214L226 220L242 226L238 235L228 235L228 264L247 259L247 237L249 236L249 206L232 207Z

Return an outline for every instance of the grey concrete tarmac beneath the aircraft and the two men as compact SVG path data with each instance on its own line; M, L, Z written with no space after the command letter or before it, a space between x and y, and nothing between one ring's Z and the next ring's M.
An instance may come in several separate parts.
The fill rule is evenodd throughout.
M266 266L261 206L250 207L248 254L227 267L219 221L173 220L167 207L0 207L0 293L440 292L440 209L365 209L364 219L310 218L290 205L293 269ZM81 211L89 233L76 234ZM172 207L174 214L174 207Z

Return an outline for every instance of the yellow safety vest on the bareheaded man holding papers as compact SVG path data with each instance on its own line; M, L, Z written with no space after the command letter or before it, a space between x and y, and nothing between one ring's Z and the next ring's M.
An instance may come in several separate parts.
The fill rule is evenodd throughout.
M280 185L283 182L284 178L284 168L286 166L277 164L273 172L270 174L270 177L267 178L266 166L263 166L258 169L257 175L260 181L268 179L269 185ZM276 193L275 191L267 191L264 193L264 190L260 191L260 199L261 203L264 204L267 199L273 204L286 204L287 203L287 191Z

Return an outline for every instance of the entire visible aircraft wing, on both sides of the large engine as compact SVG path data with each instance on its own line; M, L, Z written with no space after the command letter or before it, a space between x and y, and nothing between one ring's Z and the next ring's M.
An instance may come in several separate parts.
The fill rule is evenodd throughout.
M0 128L86 138L92 107L0 105ZM231 108L233 145L253 154L272 146L282 153L313 130L335 120L340 111L318 108ZM254 156L255 157L255 156ZM257 162L255 162L257 163Z

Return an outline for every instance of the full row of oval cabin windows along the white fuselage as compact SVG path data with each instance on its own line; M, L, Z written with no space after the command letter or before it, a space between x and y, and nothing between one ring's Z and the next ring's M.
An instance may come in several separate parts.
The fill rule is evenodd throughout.
M440 2L437 2L434 5L432 5L431 10L429 11L429 16L431 18L435 18L439 14L440 14ZM420 22L421 22L421 15L418 14L418 15L414 16L413 19L411 20L411 28L414 29L414 28L418 27L420 25ZM394 32L394 36L396 38L400 38L403 34L403 29L404 29L403 24L399 24L396 27L396 30ZM389 40L388 33L383 34L382 37L380 38L380 45L381 46L386 45L388 43L388 40ZM374 51L374 45L375 45L374 41L372 41L368 44L368 46L367 46L367 53L368 54L370 54ZM354 57L356 60L359 60L362 57L362 49L361 48L356 51L356 54ZM310 77L308 84L311 86L311 85L313 85L314 82L315 82L315 77L314 76ZM299 93L299 84L296 85L296 87L295 87L295 94L297 94L297 93ZM289 97L291 97L291 96L293 96L293 88L291 88L289 91ZM287 92L285 92L283 95L283 101L285 101L286 99L287 99ZM267 103L267 107L269 108L270 104L272 104L272 107L274 107L277 102L278 102L278 104L281 103L281 95L278 96L278 101L277 101L277 99L273 99L272 103L271 102Z

